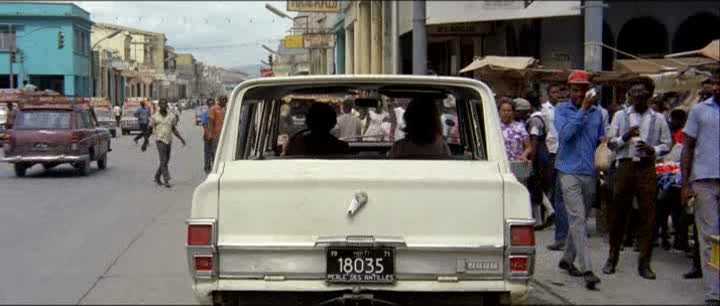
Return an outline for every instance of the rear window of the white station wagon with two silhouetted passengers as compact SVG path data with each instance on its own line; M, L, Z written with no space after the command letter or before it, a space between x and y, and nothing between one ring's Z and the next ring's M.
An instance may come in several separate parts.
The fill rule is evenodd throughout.
M480 101L473 90L442 86L250 90L241 101L236 158L485 159ZM426 133L437 133L432 144L405 139L405 115L413 103L434 105L436 117L423 117L436 121ZM317 112L310 115L317 104L324 109L321 133L308 124L311 117L319 118Z

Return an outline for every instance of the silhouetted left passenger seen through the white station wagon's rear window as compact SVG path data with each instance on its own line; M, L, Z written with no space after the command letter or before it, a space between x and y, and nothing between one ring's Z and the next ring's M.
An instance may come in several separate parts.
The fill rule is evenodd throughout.
M330 133L337 124L336 116L332 106L313 103L305 117L308 128L290 139L287 155L348 154L350 146Z

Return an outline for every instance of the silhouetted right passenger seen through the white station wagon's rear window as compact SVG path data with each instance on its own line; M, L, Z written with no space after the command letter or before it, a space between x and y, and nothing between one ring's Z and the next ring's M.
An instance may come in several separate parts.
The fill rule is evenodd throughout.
M390 152L398 159L447 159L450 147L442 137L440 114L430 100L413 100L403 115L405 138L396 141Z

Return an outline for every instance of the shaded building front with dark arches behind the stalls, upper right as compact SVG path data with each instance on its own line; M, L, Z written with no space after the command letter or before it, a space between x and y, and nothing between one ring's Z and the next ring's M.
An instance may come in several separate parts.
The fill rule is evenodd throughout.
M600 60L642 58L702 48L720 38L720 11L707 1L593 1L601 14L588 15L589 1L427 1L428 69L457 75L474 57L530 56L549 68L590 69ZM597 37L587 29L596 28ZM412 72L412 2L399 1L401 72ZM592 32L592 31L591 31ZM586 56L586 45L602 57ZM374 47L373 47L374 48Z

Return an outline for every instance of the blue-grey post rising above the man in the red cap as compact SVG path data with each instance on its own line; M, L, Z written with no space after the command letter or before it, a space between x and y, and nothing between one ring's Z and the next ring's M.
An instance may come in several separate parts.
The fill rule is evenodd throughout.
M589 72L602 70L603 32L602 0L585 0L585 70ZM593 44L588 44L592 42Z

